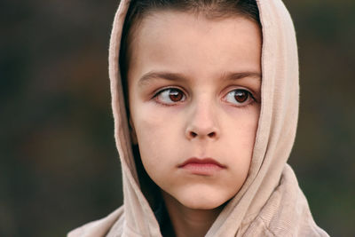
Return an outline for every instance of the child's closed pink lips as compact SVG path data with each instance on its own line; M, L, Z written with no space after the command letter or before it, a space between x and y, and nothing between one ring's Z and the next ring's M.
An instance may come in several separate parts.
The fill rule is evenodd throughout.
M194 175L211 176L220 170L224 170L226 167L213 158L200 159L192 157L179 164L177 168L187 170Z

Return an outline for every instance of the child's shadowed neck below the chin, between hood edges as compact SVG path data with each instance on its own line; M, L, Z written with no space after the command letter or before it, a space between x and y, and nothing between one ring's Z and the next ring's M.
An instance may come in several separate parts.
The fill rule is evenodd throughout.
M205 236L223 209L189 209L163 191L162 198L177 237Z

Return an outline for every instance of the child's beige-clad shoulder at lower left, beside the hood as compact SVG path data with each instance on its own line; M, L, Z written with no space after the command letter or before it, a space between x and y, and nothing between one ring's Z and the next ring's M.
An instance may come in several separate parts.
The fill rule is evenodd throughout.
M111 230L113 225L118 228L119 224L122 224L124 217L123 206L119 209L115 209L114 212L109 214L107 217L102 219L92 221L88 224L82 225L75 230L67 234L67 237L100 237L106 236L106 234Z

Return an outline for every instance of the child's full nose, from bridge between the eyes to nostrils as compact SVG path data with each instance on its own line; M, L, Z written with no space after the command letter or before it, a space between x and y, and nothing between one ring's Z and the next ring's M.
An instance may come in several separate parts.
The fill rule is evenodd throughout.
M217 138L219 128L217 106L207 93L193 100L186 127L187 138Z

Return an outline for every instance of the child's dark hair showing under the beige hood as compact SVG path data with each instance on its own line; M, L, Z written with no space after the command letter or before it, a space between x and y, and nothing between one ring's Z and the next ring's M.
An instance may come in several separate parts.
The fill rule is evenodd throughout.
M235 15L255 20L260 24L257 0L131 0L126 19L122 29L120 49L120 70L122 86L126 100L127 93L127 71L129 64L130 38L139 20L146 15L159 11L193 12L203 14L208 19L224 19ZM128 101L126 101L128 105ZM127 107L128 108L128 107Z

